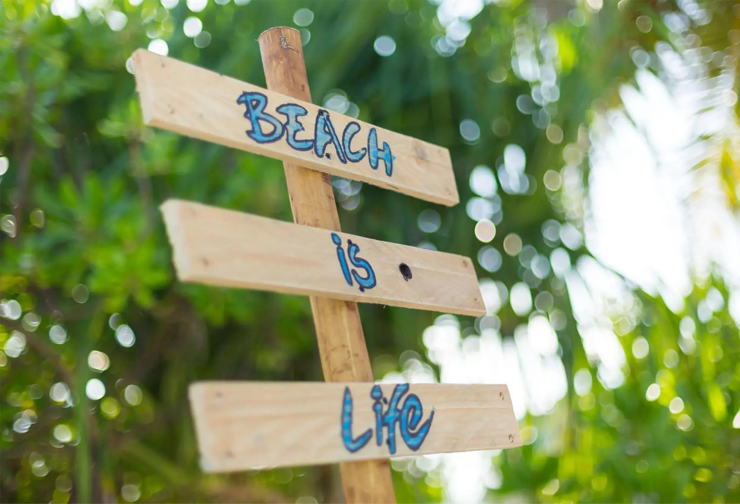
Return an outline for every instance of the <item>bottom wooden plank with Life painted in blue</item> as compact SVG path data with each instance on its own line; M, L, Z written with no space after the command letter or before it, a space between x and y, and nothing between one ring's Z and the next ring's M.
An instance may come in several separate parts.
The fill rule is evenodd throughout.
M505 385L203 381L189 396L209 472L522 445Z

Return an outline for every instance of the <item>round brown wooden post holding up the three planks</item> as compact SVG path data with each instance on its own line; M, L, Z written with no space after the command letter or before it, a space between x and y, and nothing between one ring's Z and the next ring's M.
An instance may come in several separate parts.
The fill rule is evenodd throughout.
M310 103L300 32L271 28L259 43L267 88ZM341 231L329 175L293 163L283 167L295 222ZM357 303L312 296L311 310L324 379L373 381ZM395 503L388 460L340 463L340 471L347 503Z

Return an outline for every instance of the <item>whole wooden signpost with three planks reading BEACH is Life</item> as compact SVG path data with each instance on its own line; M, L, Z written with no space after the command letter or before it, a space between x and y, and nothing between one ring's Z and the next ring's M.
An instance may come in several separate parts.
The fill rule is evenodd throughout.
M269 90L134 53L144 122L283 160L295 220L169 200L178 278L310 296L335 382L192 384L203 469L340 463L348 503L391 503L390 456L521 446L505 385L372 383L356 302L485 307L471 259L342 233L329 174L455 205L449 152L312 105L297 30L259 43Z

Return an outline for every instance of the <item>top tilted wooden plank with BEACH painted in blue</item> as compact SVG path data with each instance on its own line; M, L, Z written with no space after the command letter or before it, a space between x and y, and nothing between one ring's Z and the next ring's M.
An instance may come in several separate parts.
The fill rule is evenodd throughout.
M460 202L443 147L154 52L133 58L147 125L422 200Z

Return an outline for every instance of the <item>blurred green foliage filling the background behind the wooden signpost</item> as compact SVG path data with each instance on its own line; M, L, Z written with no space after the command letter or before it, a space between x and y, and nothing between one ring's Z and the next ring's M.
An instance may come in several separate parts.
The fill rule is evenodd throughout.
M543 223L582 222L567 214L560 189L542 184L545 172L562 168L564 146L588 150L593 109L619 106L617 86L632 78L630 48L650 50L669 39L660 14L678 9L670 1L634 0L607 1L598 13L569 1L488 4L471 20L465 45L445 58L430 44L444 31L435 19L437 6L426 1L209 2L198 14L212 35L204 48L183 33L184 19L192 15L184 1L167 10L156 0L137 6L113 0L67 20L53 16L44 1L1 5L0 154L10 168L1 179L0 213L12 215L16 225L0 234L0 288L3 299L16 300L24 316L35 313L40 321L35 327L29 319L1 319L0 345L19 331L27 351L17 358L0 355L0 500L57 503L122 501L126 485L138 487L144 502L342 498L337 471L330 467L231 475L204 475L198 468L186 401L190 382L320 380L320 364L308 299L176 282L158 213L163 200L178 197L284 220L291 219L289 201L276 160L144 127L126 68L133 50L163 38L172 57L264 86L256 38L269 27L294 26L296 10L309 7L314 20L306 28L310 39L304 52L314 102L342 89L362 120L448 147L462 201L445 208L363 185L357 208L340 208L343 229L408 245L428 240L441 251L475 257L482 244L465 213L465 202L474 196L468 177L474 166L494 166L504 146L517 143L527 154L536 189L528 195L499 191L503 219L491 245L502 251L503 237L516 233L549 256L553 247L543 239ZM727 37L740 28L734 4L702 5L714 16L692 30L714 50L737 54L737 44ZM127 16L121 31L104 22L112 8ZM548 21L542 22L536 9L544 10ZM573 23L571 9L582 13L585 24ZM653 30L638 30L638 16L650 17ZM511 71L517 30L558 41L560 98L553 121L562 129L562 143L549 141L515 105L519 95L531 91ZM374 52L379 35L396 41L391 57ZM500 68L507 69L503 79L496 77ZM508 120L509 131L494 134L489 127L494 118ZM480 125L477 143L462 139L463 119ZM727 177L739 182L738 165L727 163ZM582 174L588 185L588 160ZM347 197L337 192L337 199ZM33 213L37 208L42 213ZM442 217L440 230L431 235L417 226L428 208ZM571 251L571 261L587 254L585 248ZM482 268L478 273L511 287L520 281L522 267L517 257L504 254L496 273ZM539 429L539 437L497 456L503 483L488 497L740 500L740 434L732 427L740 409L738 328L726 308L708 323L696 319L696 307L713 286L727 299L721 279L697 282L680 315L661 299L636 291L642 310L620 336L627 380L614 390L599 383L596 363L585 355L563 282L551 273L533 287L533 297L550 292L552 309L565 314L557 334L568 395L551 415L525 420ZM376 378L399 370L397 358L406 350L423 355L421 334L437 316L377 305L362 305L360 311ZM114 313L132 327L132 347L116 343L109 325ZM615 313L615 320L622 315ZM498 316L505 337L522 323L508 306ZM683 316L696 319L694 353L679 349ZM462 327L474 327L474 319L460 320ZM67 331L66 343L47 337L55 324ZM637 359L631 351L639 336L650 343L647 358ZM717 358L716 348L724 357ZM97 373L87 366L92 350L110 357L108 370ZM665 364L667 350L680 356L676 367ZM377 358L385 355L394 359ZM587 395L573 391L579 369L593 375ZM85 395L90 378L104 382L103 401ZM72 392L66 407L48 392L59 381ZM649 402L645 391L653 381L662 394ZM129 384L143 391L136 406L124 400ZM676 395L683 398L693 429L676 427L678 415L667 408ZM16 432L23 415L31 415L33 424ZM55 442L53 429L60 424L72 430L70 443ZM394 479L400 502L443 498L429 478L396 472Z

